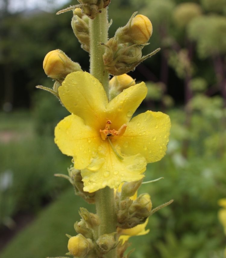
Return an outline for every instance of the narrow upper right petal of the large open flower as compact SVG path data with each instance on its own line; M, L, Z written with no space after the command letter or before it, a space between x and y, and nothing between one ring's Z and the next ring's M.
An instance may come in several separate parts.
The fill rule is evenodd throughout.
M107 106L108 119L114 129L130 121L133 113L146 97L147 87L144 82L131 86L111 100Z

